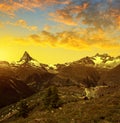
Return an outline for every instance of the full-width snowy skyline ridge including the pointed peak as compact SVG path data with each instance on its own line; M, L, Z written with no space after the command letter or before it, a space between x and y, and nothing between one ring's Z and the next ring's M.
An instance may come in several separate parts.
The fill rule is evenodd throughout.
M108 68L112 69L116 67L117 65L120 64L120 56L113 57L108 54L99 54L97 53L96 55L89 57L83 57L80 60L73 61L73 62L68 62L65 64L53 64L53 65L47 65L40 63L36 59L32 58L27 51L24 52L23 56L20 58L19 61L14 62L14 63L8 63L7 61L0 61L0 67L8 67L10 65L13 66L19 66L19 65L25 65L29 64L30 66L34 67L43 67L46 70L50 69L59 69L65 66L69 66L71 64L82 64L86 66L94 66L98 68Z

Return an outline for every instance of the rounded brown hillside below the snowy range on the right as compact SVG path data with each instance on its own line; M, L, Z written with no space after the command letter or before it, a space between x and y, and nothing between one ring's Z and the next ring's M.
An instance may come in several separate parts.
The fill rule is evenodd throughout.
M97 70L90 66L71 64L58 70L58 74L51 79L51 84L58 86L78 85L95 86L100 76Z

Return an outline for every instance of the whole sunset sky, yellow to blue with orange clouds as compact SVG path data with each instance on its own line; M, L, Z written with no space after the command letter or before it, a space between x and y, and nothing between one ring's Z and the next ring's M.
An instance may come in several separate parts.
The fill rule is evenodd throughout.
M0 0L0 60L120 55L120 0Z

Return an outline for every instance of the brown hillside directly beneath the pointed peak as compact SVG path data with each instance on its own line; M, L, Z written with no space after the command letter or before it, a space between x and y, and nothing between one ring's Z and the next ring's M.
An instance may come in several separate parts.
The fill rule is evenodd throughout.
M15 75L33 90L39 90L44 83L54 77L45 68L34 67L29 64L20 65L15 69Z

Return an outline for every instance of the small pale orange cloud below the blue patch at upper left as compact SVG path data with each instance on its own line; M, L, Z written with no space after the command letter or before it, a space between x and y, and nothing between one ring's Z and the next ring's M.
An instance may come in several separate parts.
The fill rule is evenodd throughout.
M20 26L20 27L25 28L25 29L28 29L30 31L37 31L38 30L38 27L37 26L30 26L23 19L17 20L14 23L13 22L7 22L7 24L13 25L13 26Z

